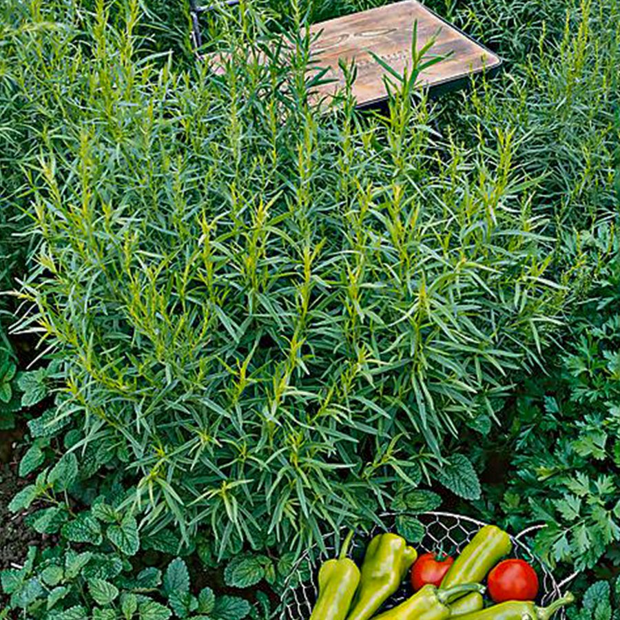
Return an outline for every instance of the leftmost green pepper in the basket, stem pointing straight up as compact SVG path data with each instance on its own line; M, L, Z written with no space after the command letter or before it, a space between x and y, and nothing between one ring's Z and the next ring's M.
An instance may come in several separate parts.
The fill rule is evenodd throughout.
M349 613L355 590L360 583L360 569L347 557L353 530L344 539L340 556L325 562L319 570L319 596L310 620L344 620Z

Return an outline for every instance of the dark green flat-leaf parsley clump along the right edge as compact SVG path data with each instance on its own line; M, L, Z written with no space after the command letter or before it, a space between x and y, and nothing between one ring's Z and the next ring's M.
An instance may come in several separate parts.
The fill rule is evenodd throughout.
M549 564L603 571L620 564L620 243L606 227L586 245L599 284L570 320L557 371L517 400L500 506L516 530L546 524L534 544Z

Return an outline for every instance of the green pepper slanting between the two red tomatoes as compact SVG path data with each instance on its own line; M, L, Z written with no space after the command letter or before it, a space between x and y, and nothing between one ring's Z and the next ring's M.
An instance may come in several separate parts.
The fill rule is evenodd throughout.
M446 572L441 588L447 590L460 583L479 583L512 548L506 532L495 526L484 526Z

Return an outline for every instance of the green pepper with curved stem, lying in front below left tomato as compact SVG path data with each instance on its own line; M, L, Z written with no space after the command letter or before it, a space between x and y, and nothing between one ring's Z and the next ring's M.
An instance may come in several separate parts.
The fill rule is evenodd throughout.
M399 606L379 614L375 620L446 620L450 617L448 601L465 592L484 592L479 583L463 583L449 590L437 590L437 586L427 583L413 597Z

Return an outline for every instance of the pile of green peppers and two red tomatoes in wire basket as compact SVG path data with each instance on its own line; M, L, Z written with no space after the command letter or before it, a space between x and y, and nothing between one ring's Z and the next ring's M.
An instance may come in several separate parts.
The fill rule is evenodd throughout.
M360 570L347 557L352 537L353 530L338 559L321 566L318 600L310 620L549 620L575 601L568 592L546 608L536 606L536 571L524 560L502 560L513 544L496 526L484 526L456 559L444 559L431 568L432 553L417 557L404 538L386 533L370 541ZM415 593L380 612L410 572ZM487 590L482 585L485 579L495 605L482 596Z

